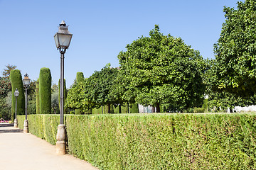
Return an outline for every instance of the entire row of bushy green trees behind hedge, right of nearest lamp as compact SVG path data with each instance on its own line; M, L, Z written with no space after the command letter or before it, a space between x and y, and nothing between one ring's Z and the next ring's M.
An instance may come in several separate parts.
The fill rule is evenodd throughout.
M75 84L66 106L88 111L102 105L141 103L156 112L201 107L209 96L210 108L255 104L256 1L224 7L225 23L214 45L215 60L181 38L163 35L159 26L127 45L118 55L119 69L109 65L83 83Z

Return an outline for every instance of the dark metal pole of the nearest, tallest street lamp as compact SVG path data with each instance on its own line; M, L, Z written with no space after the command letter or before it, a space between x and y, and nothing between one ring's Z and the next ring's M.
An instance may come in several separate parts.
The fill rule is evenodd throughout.
M64 122L64 54L65 52L60 52L60 125Z

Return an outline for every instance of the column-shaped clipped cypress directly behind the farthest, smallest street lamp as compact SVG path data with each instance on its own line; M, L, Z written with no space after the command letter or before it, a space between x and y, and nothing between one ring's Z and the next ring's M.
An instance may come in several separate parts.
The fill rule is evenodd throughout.
M17 98L17 115L25 115L25 95L23 89L23 82L21 72L18 69L11 70L11 120L14 121L15 117L15 103L16 98L14 96L15 89L18 89L19 95Z

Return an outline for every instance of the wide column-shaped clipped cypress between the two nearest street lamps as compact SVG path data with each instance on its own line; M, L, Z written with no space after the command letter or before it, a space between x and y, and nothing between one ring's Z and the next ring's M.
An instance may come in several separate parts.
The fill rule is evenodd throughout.
M46 67L41 68L39 74L39 103L41 114L51 113L51 75Z

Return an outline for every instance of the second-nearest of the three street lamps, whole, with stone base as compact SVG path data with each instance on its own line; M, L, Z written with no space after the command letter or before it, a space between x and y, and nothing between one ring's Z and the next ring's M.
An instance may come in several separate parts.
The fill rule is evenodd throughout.
M28 74L24 75L24 79L23 79L23 86L25 87L25 113L26 113L26 117L24 120L24 128L23 128L23 132L24 133L28 133L28 86L30 84L31 79L28 78Z

